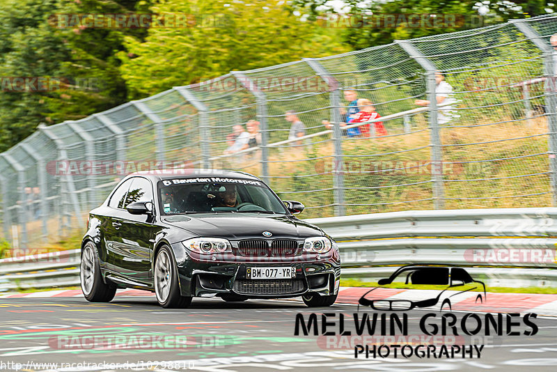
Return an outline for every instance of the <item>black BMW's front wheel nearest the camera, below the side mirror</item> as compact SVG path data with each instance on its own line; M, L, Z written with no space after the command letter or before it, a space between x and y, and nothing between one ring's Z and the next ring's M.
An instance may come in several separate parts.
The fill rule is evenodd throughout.
M155 258L155 297L164 309L189 307L191 297L180 295L178 270L168 245L163 245Z

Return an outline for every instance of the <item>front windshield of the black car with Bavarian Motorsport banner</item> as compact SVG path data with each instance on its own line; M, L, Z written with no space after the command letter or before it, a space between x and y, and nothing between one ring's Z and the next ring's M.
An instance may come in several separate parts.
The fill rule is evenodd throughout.
M282 201L259 180L175 178L158 185L165 215L203 212L287 213Z

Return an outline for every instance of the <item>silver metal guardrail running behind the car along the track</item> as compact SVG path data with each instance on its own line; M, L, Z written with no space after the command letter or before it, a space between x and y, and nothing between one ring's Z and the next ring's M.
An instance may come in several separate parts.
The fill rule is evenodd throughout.
M488 286L557 287L557 208L417 210L306 219L340 247L344 277L389 266L469 267ZM79 249L0 260L0 291L79 286Z

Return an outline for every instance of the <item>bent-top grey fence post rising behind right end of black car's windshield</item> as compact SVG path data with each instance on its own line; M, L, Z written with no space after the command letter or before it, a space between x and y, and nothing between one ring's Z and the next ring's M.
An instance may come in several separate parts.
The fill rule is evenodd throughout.
M261 131L261 178L263 179L263 182L270 185L269 148L267 147L267 144L269 143L269 129L267 127L267 97L265 96L265 93L260 91L256 84L242 72L231 71L230 73L235 77L237 82L240 82L240 84L242 84L242 86L256 98L256 116L260 123Z

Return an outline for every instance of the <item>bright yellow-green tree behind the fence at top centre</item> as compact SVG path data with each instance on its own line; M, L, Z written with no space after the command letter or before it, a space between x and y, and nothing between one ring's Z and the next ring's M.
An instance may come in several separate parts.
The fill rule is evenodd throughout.
M151 28L145 40L127 37L120 52L130 98L226 74L346 52L335 30L303 22L276 1L168 0L150 8L188 15L185 27Z

